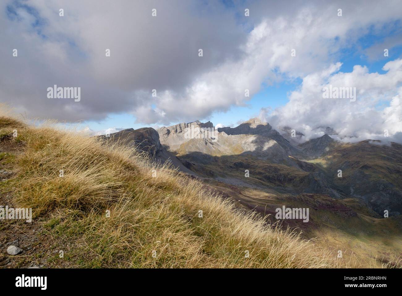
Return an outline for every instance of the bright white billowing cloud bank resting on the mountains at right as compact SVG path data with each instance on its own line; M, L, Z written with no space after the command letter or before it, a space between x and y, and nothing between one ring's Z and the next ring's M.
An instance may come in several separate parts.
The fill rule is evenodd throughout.
M279 130L290 126L302 132L302 140L322 136L322 126L330 126L343 141L394 139L402 132L402 59L386 63L385 74L369 73L366 67L354 66L349 73L338 72L340 64L314 72L303 78L300 89L293 91L289 102L265 118ZM324 99L323 88L356 87L357 99ZM380 103L389 105L379 108ZM384 137L388 130L390 138ZM336 137L336 136L332 136Z

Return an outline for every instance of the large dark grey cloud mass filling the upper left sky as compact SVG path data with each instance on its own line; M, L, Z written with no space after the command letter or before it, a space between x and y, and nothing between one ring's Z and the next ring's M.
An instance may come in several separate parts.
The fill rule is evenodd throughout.
M241 58L246 40L233 12L215 1L5 1L0 9L0 100L59 120L99 120L135 111L152 89L183 91ZM54 84L81 87L81 101L47 99Z

